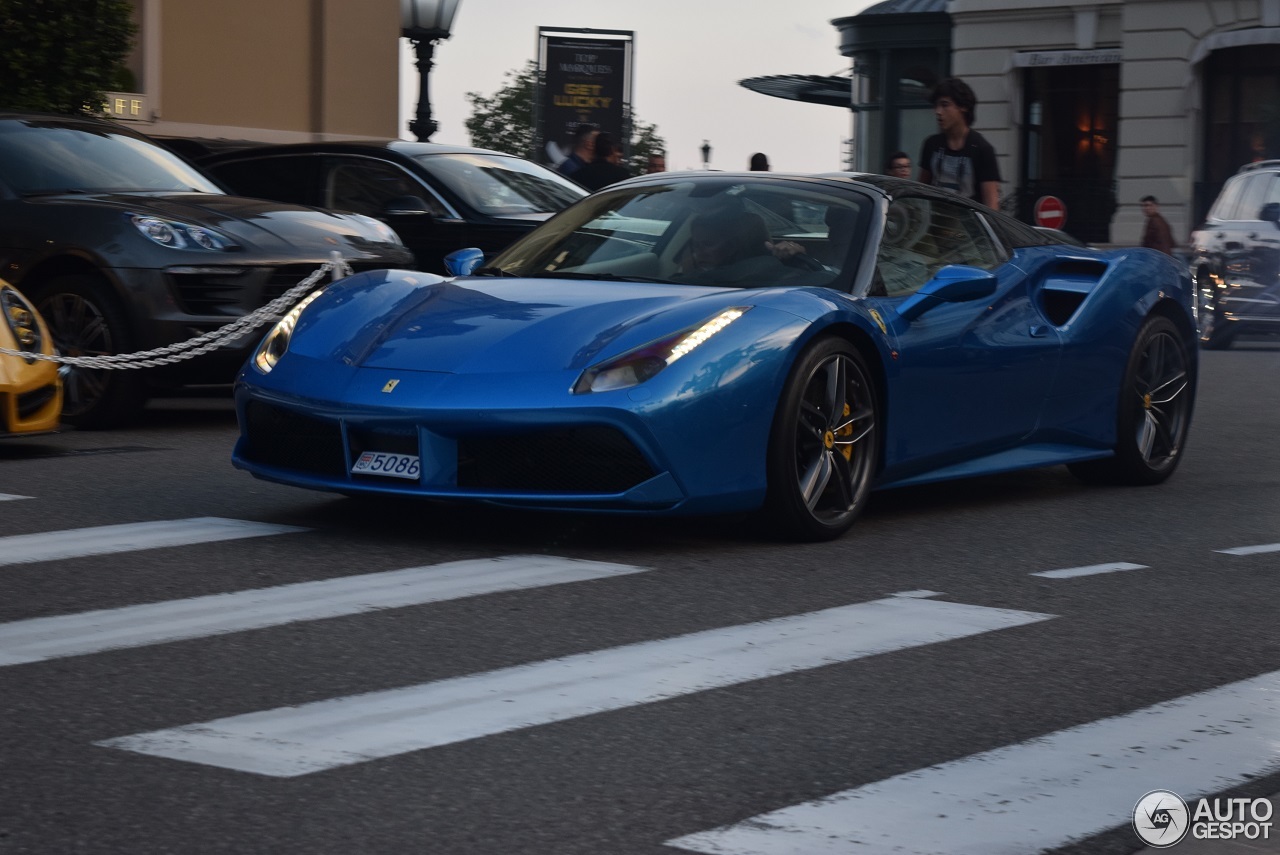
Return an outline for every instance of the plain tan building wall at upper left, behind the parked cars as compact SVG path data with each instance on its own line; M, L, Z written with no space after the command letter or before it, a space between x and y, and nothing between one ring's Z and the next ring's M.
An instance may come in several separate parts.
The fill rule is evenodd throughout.
M136 91L108 113L157 137L399 136L397 0L134 0Z

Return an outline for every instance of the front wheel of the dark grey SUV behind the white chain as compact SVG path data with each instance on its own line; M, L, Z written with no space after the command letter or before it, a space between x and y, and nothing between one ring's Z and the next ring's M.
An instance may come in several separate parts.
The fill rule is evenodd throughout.
M133 349L128 319L91 275L58 276L31 289L61 356L108 356ZM142 410L146 381L136 369L64 366L63 421L100 430L127 424Z

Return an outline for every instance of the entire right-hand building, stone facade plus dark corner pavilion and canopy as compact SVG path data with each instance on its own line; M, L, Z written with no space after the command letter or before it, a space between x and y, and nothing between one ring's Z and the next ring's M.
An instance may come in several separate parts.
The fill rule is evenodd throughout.
M1093 243L1138 243L1148 195L1185 241L1226 178L1280 157L1280 0L886 0L831 23L852 67L851 168L916 160L929 87L960 77L1001 207L1036 221L1056 197ZM742 84L817 101L804 79Z

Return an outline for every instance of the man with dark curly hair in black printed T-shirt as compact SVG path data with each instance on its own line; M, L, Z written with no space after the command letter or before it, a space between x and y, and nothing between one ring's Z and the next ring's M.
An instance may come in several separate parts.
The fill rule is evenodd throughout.
M920 147L922 184L945 187L961 196L1000 207L1000 165L996 150L972 128L978 99L969 84L948 77L929 97L938 133Z

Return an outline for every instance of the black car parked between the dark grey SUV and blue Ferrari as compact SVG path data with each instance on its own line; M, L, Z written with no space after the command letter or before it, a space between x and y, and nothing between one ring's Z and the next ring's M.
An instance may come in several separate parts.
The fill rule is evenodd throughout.
M444 274L463 247L497 255L586 191L535 163L431 142L305 142L197 159L233 192L376 216L417 266Z

